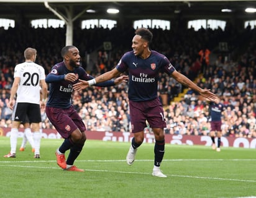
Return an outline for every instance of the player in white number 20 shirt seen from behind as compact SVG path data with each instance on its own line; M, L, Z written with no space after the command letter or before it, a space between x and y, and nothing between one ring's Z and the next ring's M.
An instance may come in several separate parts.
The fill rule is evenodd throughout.
M25 62L17 64L14 69L14 82L11 88L9 108L12 112L11 152L4 157L16 157L17 137L20 124L24 124L24 133L30 144L34 144L34 158L40 158L40 89L42 87L42 103L45 105L47 84L45 70L35 63L37 50L27 48L24 51ZM16 98L15 98L16 97ZM34 132L34 136L30 131Z

